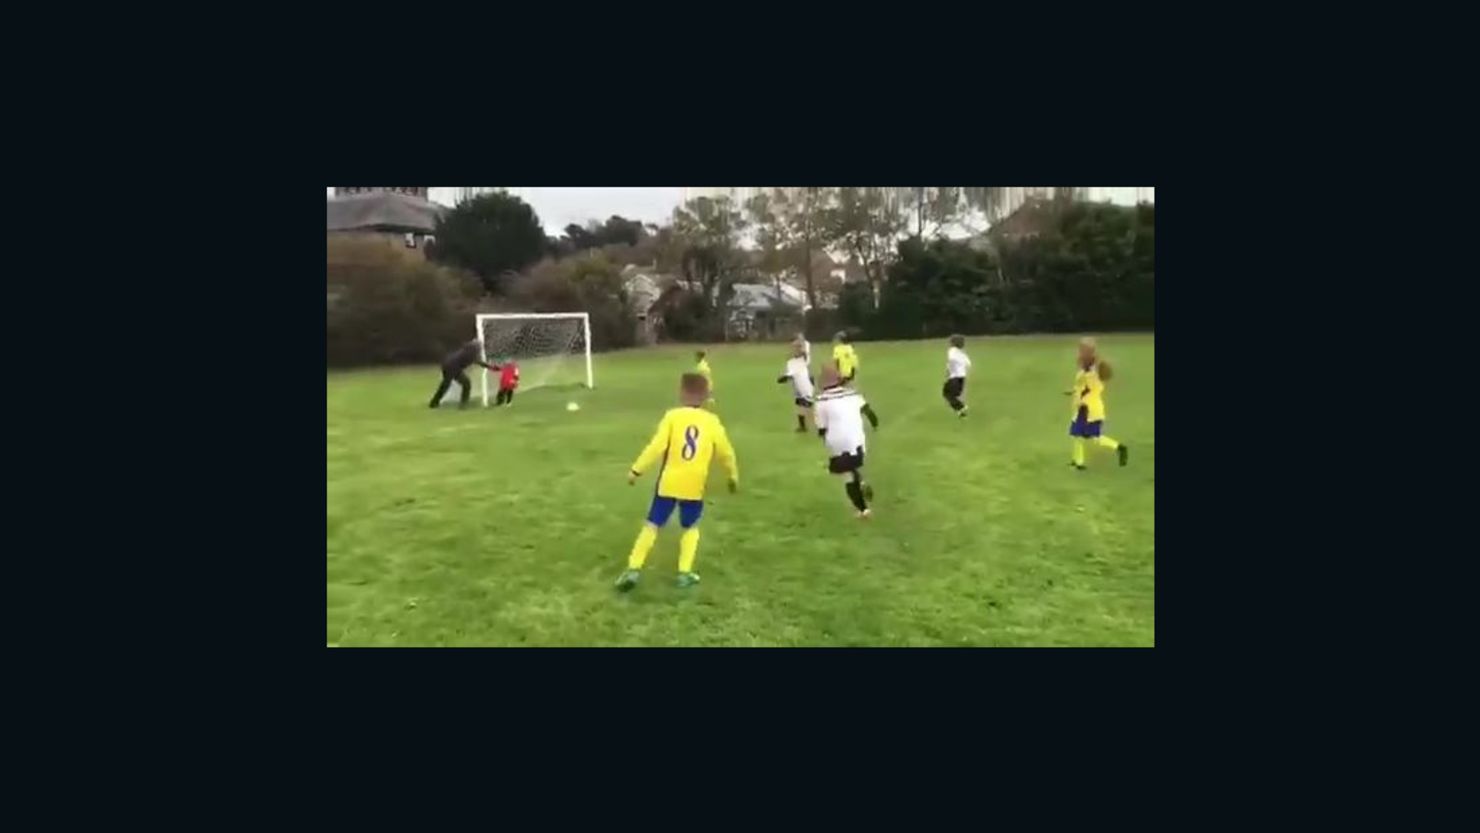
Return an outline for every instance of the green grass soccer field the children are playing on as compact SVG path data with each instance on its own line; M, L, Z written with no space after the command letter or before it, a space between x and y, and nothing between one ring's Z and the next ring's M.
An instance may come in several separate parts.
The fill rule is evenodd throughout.
M1151 645L1154 339L1110 336L1107 432L1069 466L1074 337L971 339L958 420L946 343L860 343L875 518L795 434L780 345L710 349L741 491L710 476L697 570L676 519L629 595L653 493L628 466L675 404L687 348L596 357L595 391L431 411L435 368L329 374L330 645ZM815 345L824 354L827 345ZM814 358L817 358L814 355ZM565 402L582 404L567 413Z

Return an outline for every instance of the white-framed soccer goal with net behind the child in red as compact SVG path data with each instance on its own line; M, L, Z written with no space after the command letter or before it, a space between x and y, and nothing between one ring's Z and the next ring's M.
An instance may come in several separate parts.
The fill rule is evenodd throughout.
M591 373L591 315L585 312L509 312L478 315L482 360L519 364L519 391L551 385L595 388ZM482 404L488 405L490 373L482 371Z

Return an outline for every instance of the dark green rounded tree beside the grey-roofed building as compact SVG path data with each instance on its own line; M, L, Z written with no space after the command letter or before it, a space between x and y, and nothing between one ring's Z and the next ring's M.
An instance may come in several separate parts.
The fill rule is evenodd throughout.
M437 220L437 243L428 249L434 259L472 271L488 293L545 252L545 228L534 209L503 191L450 209Z

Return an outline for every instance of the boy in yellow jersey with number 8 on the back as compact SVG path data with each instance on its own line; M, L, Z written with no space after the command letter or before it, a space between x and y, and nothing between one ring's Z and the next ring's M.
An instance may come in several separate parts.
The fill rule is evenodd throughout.
M678 539L678 586L693 587L699 583L694 573L694 556L699 553L699 516L704 512L704 485L709 481L709 463L715 456L730 475L730 491L740 488L740 465L736 450L730 445L725 426L719 417L700 408L709 397L709 380L697 373L685 373L679 386L682 407L670 408L657 423L657 432L647 448L638 454L628 484L636 482L642 472L662 460L657 487L653 490L653 506L647 524L638 533L628 556L628 571L617 579L619 590L630 590L642 576L657 531L678 507L678 525L684 528Z

